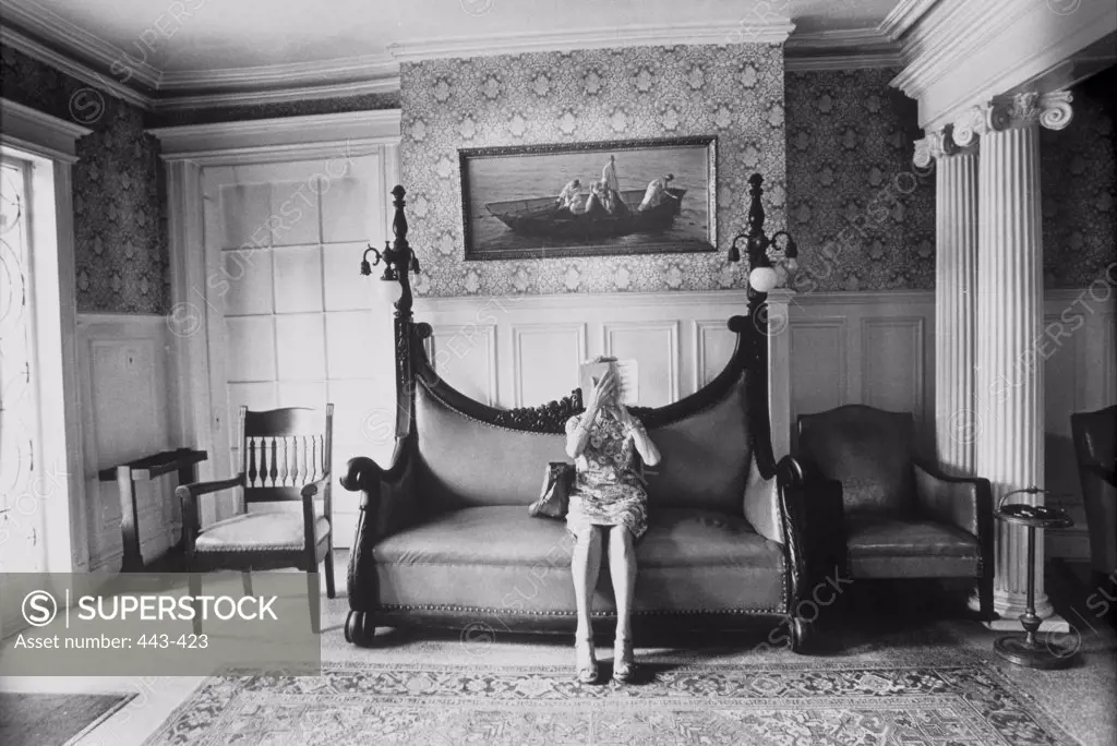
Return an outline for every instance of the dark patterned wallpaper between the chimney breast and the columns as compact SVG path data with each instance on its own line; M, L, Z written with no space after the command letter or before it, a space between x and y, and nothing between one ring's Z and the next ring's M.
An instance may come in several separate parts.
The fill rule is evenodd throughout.
M898 71L787 74L800 291L935 286L935 176L911 165L923 135L916 103L888 86Z

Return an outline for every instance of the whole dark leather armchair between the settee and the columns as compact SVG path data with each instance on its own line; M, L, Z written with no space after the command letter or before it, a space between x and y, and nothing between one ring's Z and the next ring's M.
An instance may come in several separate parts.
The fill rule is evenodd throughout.
M992 618L987 479L949 477L923 461L907 412L848 404L801 415L796 430L804 480L841 486L813 490L825 504L804 509L809 523L824 522L829 536L843 538L829 552L843 557L850 577L973 577L982 616Z

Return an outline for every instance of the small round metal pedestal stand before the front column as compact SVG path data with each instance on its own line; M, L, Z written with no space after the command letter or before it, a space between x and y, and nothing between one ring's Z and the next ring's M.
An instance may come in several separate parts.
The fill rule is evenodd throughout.
M993 649L1001 658L1018 666L1042 669L1063 668L1075 660L1077 648L1061 645L1050 639L1040 641L1035 637L1043 621L1035 615L1035 529L1067 528L1073 526L1075 522L1067 511L1058 508L1027 503L1004 504L1008 498L1020 494L1040 495L1048 494L1048 490L1029 487L1006 492L997 503L993 514L997 520L1028 528L1028 605L1024 608L1024 613L1020 615L1024 634L1005 634L993 643Z

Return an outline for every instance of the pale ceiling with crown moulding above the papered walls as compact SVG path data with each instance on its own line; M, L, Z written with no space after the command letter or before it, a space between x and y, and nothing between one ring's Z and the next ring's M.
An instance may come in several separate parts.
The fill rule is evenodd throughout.
M157 92L321 85L393 74L411 50L707 44L783 32L812 49L880 35L933 0L0 0L4 23ZM900 11L897 6L904 6ZM887 40L887 35L881 36ZM586 44L589 41L590 44ZM532 46L534 45L534 46ZM445 54L442 56L446 56ZM264 68L264 69L260 69ZM260 73L261 75L254 75ZM293 77L294 75L294 77ZM298 77L302 76L302 77Z

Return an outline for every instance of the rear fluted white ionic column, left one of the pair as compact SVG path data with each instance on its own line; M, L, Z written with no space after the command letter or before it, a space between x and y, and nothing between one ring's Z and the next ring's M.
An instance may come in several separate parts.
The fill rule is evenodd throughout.
M951 130L916 142L914 162L935 162L935 450L944 471L973 476L977 154L958 149Z

